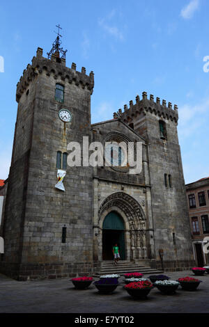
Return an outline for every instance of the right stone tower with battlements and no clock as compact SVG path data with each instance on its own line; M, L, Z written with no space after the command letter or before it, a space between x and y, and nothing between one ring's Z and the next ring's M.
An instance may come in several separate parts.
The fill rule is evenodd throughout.
M114 117L129 125L148 145L148 167L153 210L155 257L161 266L175 269L192 266L192 241L185 193L185 180L178 143L178 107L147 93L119 109ZM161 252L160 252L161 251Z

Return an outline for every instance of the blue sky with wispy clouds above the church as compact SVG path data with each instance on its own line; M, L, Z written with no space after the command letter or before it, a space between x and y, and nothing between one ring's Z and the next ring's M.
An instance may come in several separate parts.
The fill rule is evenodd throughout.
M47 56L58 23L68 67L95 73L92 122L143 91L177 104L185 182L209 176L208 12L208 0L1 1L0 179L10 166L17 81L37 47Z

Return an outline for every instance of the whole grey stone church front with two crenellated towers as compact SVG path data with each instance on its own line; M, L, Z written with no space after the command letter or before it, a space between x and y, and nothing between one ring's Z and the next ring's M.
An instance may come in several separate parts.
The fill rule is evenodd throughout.
M91 125L94 74L38 48L17 83L17 122L1 225L0 271L18 280L76 276L121 259L167 270L194 264L178 144L178 109L143 93ZM67 111L70 122L59 113ZM66 165L68 143L142 143L142 170ZM135 150L134 150L135 151ZM65 191L56 189L65 170ZM160 256L161 254L161 256Z

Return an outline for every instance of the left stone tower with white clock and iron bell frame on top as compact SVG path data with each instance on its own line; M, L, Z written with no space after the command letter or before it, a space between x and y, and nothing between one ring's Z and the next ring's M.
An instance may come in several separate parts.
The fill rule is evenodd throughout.
M91 135L94 74L66 67L57 34L48 58L38 47L17 83L0 271L19 280L93 269L93 171L68 167L67 147ZM55 188L58 170L65 191Z

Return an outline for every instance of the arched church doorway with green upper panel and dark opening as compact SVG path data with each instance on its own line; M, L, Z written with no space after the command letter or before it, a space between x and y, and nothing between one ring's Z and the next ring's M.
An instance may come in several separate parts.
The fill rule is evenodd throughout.
M117 212L109 212L102 225L102 260L113 260L112 248L117 243L121 260L125 260L123 218Z

